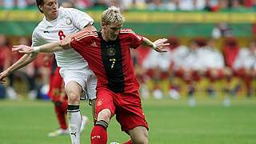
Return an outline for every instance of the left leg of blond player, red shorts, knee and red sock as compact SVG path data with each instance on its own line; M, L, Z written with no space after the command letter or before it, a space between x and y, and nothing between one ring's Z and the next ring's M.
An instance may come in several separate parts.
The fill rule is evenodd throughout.
M91 144L106 144L107 132L106 129L110 122L110 118L114 115L114 93L110 90L98 90L96 98L96 118L94 128L91 130L90 142Z

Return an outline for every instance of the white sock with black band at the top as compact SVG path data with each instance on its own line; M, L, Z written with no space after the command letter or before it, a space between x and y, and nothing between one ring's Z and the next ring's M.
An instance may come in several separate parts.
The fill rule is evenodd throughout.
M72 144L80 144L80 127L82 123L82 117L80 114L79 106L68 105L67 115L71 142Z

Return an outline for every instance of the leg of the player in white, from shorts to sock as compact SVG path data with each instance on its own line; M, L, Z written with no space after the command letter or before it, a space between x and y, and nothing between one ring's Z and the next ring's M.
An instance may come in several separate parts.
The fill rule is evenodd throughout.
M88 77L88 70L86 70L86 68L77 70L61 68L60 74L64 79L65 90L68 96L67 114L70 138L72 143L80 143L82 116L80 113L79 102L82 96L82 91L87 90L86 81Z

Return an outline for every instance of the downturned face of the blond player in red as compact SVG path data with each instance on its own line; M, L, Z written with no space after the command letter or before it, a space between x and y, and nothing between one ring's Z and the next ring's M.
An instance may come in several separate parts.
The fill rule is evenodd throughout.
M120 30L122 28L122 24L110 24L110 25L105 25L102 27L102 29L105 30L105 38L107 41L114 41L118 38L118 35L120 33Z

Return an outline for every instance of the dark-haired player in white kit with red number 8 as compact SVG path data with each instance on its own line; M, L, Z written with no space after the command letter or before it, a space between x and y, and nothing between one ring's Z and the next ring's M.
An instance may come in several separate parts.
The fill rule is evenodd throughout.
M92 26L94 20L82 11L72 8L58 7L58 0L37 0L38 9L44 18L42 22L34 29L32 35L32 46L40 46L48 42L58 42L66 37L66 35L74 34L85 28L94 30ZM82 116L79 110L80 97L82 91L90 100L96 95L95 86L97 78L89 69L87 62L75 50L62 50L55 52L55 58L60 69L60 74L65 82L65 91L68 96L68 120L70 138L72 144L80 143L80 126ZM25 54L22 58L10 66L7 70L0 74L0 82L4 82L4 78L10 75L14 70L26 66L36 58L37 54Z

